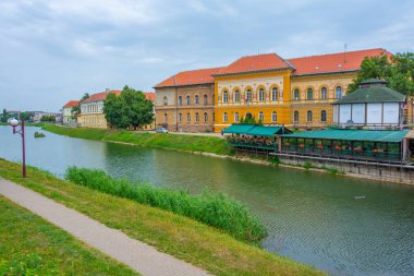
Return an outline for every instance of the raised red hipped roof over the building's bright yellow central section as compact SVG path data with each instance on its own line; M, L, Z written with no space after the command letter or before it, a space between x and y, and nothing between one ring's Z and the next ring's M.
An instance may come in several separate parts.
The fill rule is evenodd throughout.
M240 58L230 65L222 68L218 75L288 68L292 68L289 61L276 53L266 53Z

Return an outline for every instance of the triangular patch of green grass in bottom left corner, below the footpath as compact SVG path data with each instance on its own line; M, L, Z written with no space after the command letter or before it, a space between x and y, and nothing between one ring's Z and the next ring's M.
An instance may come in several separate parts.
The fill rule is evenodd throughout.
M137 275L0 196L0 275Z

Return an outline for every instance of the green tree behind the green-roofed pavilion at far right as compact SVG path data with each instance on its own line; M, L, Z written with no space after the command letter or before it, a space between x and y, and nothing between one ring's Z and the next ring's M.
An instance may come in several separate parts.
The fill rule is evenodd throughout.
M388 82L391 89L405 95L414 91L414 53L397 53L388 58L385 55L365 58L356 79L348 87L348 93L356 91L362 81L380 79Z

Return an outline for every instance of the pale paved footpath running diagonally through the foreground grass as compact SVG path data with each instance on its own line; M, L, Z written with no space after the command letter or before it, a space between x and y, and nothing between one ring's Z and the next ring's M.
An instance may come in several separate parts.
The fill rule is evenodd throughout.
M145 276L208 275L200 268L158 252L119 230L1 178L0 194Z

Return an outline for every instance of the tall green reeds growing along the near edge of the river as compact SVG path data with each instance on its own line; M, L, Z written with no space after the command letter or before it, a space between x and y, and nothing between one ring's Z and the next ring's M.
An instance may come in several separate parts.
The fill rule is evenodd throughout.
M68 168L65 178L76 184L191 217L240 240L259 241L266 236L266 228L247 207L224 194L203 192L192 195L184 191L131 183L125 179L117 180L101 170L76 167Z

